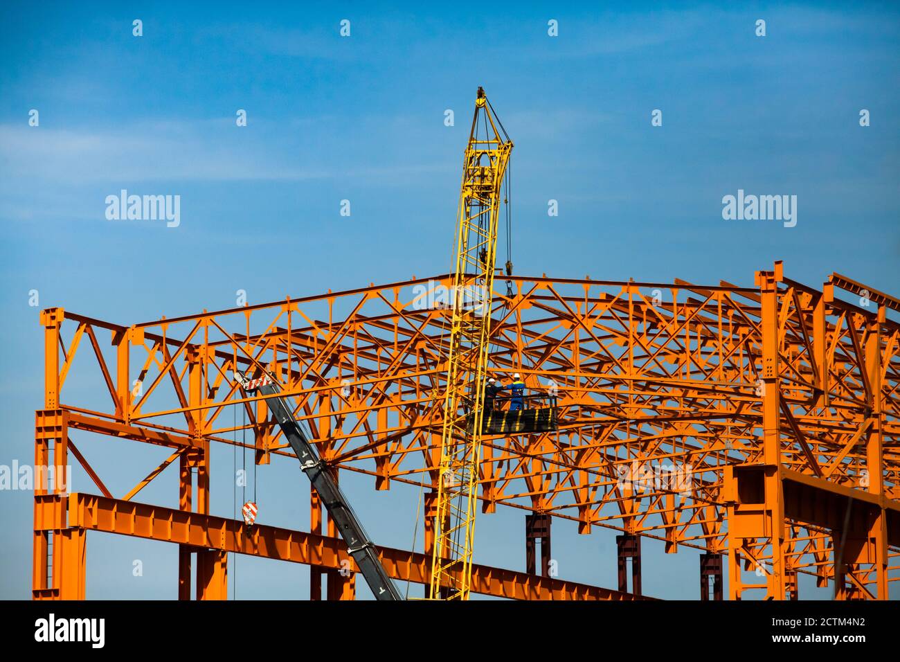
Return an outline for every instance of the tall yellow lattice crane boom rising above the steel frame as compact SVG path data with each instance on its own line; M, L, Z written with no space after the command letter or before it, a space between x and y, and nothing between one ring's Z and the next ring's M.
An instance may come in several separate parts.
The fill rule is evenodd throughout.
M468 600L501 186L512 141L478 88L456 228L431 599ZM467 418L470 424L467 425Z

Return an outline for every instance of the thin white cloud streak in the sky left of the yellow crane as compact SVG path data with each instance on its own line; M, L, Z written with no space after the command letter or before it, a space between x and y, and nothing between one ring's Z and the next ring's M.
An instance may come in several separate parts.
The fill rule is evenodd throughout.
M446 168L446 163L437 160L371 162L379 157L376 141L390 144L390 136L375 139L363 150L357 149L359 143L349 143L356 153L349 159L347 149L329 150L320 132L296 134L279 127L259 131L245 141L228 132L244 131L226 128L228 122L154 122L85 131L0 124L0 163L8 178L60 185L134 180L387 180ZM361 159L360 153L368 159ZM355 165L344 167L343 162Z

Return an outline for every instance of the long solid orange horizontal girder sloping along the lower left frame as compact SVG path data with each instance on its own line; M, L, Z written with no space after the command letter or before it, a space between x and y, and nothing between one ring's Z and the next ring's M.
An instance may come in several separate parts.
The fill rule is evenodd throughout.
M224 573L227 553L302 563L339 570L342 561L358 568L347 553L347 544L334 536L292 531L263 524L247 528L243 521L228 520L198 512L184 512L146 503L110 499L94 494L48 495L38 501L38 519L42 526L79 536L84 546L85 531L120 533L148 540L185 545L209 553L211 561ZM430 558L426 554L403 549L379 547L383 565L396 579L428 584ZM207 563L210 563L208 561ZM208 571L210 574L212 570ZM221 585L220 585L221 586ZM84 573L80 580L84 595ZM599 586L567 582L554 577L529 575L497 567L473 567L473 591L479 594L509 597L515 600L645 600L632 594ZM208 599L224 599L219 590ZM65 599L65 598L63 598Z

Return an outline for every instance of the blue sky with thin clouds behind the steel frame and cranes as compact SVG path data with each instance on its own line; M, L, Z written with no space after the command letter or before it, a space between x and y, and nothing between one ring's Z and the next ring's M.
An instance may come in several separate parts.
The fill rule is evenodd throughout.
M6 3L0 464L31 462L42 393L31 290L40 308L132 323L228 307L238 289L260 303L446 272L480 85L516 143L519 274L752 285L783 259L812 286L838 271L896 294L898 38L887 4L514 3L485 15L462 4ZM107 221L104 199L122 188L180 195L181 224ZM722 197L738 189L797 195L797 226L723 220ZM127 489L156 456L123 457ZM285 503L306 503L289 469L273 469L284 478L272 498L293 489ZM0 498L0 597L26 597L30 495ZM416 494L377 498L359 508L366 527L409 548ZM388 520L385 502L410 517ZM307 510L285 505L279 523L302 528ZM476 560L524 567L521 514L490 521ZM615 585L612 534L554 531L563 577ZM175 595L173 550L92 536L89 597ZM162 560L132 582L140 555ZM694 553L645 543L644 558L646 593L697 597ZM122 564L119 579L101 571ZM241 558L237 576L239 596L306 595L301 567ZM815 590L801 583L801 594Z

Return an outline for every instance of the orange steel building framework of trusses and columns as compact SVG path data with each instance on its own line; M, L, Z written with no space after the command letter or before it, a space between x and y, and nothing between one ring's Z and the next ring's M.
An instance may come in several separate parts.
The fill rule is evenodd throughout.
M888 597L900 550L900 324L888 311L900 301L838 274L804 286L778 262L752 287L510 280L493 295L489 374L553 389L559 430L484 437L479 526L504 507L527 514L528 540L545 544L554 518L581 534L620 531L620 590L550 576L548 554L538 573L529 547L529 572L473 566L474 592L634 599L639 543L653 539L669 553L703 552L707 575L727 556L731 599L796 599L801 574L832 583L840 599ZM381 553L391 576L428 585L451 285L414 278L130 326L44 311L35 465L77 462L96 494L66 494L41 476L33 597L85 597L86 531L179 545L180 598L191 596L192 565L196 596L225 598L229 552L307 564L329 576L327 597L354 596L354 576L336 572L352 559L323 531L316 494L308 532L211 515L211 444L240 445L230 407L247 412L258 465L296 461L266 397L240 396L235 367L280 381L332 467L372 476L376 490L424 485L424 553ZM67 396L76 373L94 379L92 406ZM171 456L117 498L74 431ZM138 503L169 465L180 476L176 507ZM321 597L320 582L311 590Z

